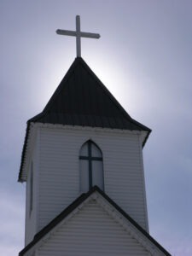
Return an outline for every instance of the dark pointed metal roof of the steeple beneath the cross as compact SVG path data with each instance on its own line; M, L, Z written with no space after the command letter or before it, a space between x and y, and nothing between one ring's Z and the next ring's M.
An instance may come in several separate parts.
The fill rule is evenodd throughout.
M80 57L73 61L44 111L29 121L150 131L131 119Z

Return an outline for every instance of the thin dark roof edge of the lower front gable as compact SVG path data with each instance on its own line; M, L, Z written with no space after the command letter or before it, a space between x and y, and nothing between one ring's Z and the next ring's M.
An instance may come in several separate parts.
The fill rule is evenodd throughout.
M143 228L137 224L136 221L134 221L126 212L124 212L114 201L112 201L108 195L106 195L101 189L99 189L97 186L93 187L90 189L89 192L82 194L79 196L78 199L73 201L73 203L67 207L63 212L61 212L56 218L54 218L47 226L45 226L42 230L38 232L36 236L34 236L33 240L19 253L19 256L24 256L26 252L28 252L32 247L34 247L38 241L41 241L44 236L48 235L51 230L53 230L57 224L60 224L61 221L63 221L67 216L69 216L70 213L72 213L75 209L78 209L78 207L86 201L90 195L93 195L95 192L99 193L99 195L102 195L102 197L108 201L108 203L115 208L125 219L127 219L134 227L135 229L141 233L147 241L150 241L153 243L155 247L157 247L161 253L164 255L171 255L164 249L163 247L160 246L160 244L154 240L152 236L148 234Z

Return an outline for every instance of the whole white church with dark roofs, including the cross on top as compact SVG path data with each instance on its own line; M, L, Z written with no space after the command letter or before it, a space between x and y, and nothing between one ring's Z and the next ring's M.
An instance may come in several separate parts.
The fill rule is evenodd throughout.
M27 121L19 182L26 183L20 256L171 255L148 233L143 147L132 119L77 57L44 110Z

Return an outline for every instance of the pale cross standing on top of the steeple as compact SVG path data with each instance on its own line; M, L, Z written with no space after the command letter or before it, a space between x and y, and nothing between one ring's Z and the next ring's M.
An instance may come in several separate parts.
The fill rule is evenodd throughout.
M56 33L58 35L76 37L77 57L81 56L81 38L96 38L96 39L100 38L100 34L80 31L79 15L76 16L76 31L57 29Z

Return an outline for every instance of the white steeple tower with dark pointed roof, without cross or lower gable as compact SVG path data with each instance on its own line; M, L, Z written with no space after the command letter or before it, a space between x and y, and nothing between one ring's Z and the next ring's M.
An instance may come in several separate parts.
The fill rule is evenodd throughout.
M148 230L142 148L149 132L77 57L44 111L27 122L19 177L26 243L94 185Z

